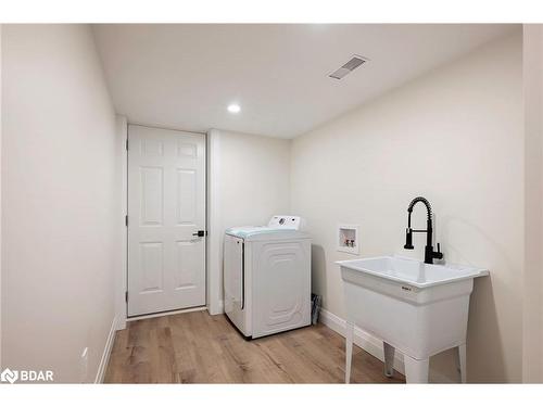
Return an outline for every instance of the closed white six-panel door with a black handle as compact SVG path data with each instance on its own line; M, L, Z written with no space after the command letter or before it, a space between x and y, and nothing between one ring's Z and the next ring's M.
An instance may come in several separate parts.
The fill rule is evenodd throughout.
M204 136L130 125L128 316L205 304L204 230Z

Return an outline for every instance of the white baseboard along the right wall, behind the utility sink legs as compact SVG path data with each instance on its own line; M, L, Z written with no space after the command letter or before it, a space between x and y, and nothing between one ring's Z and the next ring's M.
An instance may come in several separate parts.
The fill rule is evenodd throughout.
M345 338L346 322L344 319L338 317L336 314L326 309L320 309L320 321L330 328L332 331L338 332L341 336ZM379 360L384 361L384 354L382 349L382 341L374 335L363 331L358 327L354 327L353 342L355 345L362 347L370 355L377 357ZM404 374L404 356L396 349L394 353L394 369ZM447 376L430 368L430 382L431 383L455 383Z

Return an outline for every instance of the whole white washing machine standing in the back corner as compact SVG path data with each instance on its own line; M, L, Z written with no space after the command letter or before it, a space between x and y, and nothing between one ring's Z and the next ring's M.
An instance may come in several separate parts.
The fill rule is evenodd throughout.
M301 222L278 215L226 231L225 313L247 339L311 325L311 238Z

